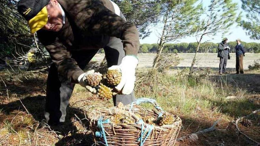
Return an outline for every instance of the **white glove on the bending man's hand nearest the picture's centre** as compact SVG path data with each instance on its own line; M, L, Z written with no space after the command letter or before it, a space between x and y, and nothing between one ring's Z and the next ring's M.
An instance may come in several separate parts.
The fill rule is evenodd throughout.
M108 70L118 70L122 77L120 83L115 87L116 90L122 90L123 94L130 94L134 90L135 68L138 59L134 56L128 55L122 59L120 65L113 65Z

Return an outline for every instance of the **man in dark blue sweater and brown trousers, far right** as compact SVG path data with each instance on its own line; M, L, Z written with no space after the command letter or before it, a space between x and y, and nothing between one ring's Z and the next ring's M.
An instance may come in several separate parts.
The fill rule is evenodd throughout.
M239 72L241 74L244 73L243 70L243 57L245 56L245 48L244 46L241 44L241 40L237 39L236 40L237 45L235 46L235 51L236 51L236 74L239 74Z

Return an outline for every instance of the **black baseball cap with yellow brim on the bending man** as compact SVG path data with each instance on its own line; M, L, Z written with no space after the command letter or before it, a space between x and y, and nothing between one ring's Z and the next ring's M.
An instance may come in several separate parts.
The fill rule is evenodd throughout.
M28 21L31 33L40 30L48 22L46 5L50 0L20 0L18 12Z

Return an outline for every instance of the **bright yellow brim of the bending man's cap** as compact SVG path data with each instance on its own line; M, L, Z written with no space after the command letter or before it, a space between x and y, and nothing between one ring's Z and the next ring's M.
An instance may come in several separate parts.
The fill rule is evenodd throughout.
M28 21L31 33L40 30L43 28L48 22L48 12L46 6L32 19Z

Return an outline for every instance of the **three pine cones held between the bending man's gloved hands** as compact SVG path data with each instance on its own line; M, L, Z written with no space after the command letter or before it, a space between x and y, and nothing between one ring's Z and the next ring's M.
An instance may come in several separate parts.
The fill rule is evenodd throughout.
M113 92L113 87L121 81L121 73L118 70L108 70L105 76L100 73L88 74L86 76L88 84L93 87L98 87L97 95L103 100L109 100L116 94Z

